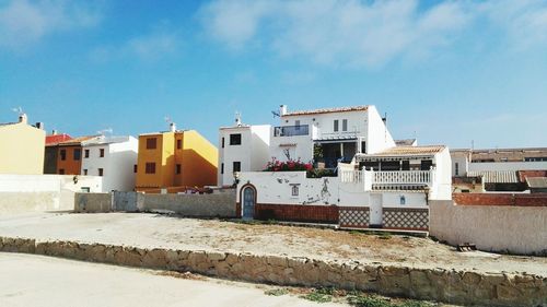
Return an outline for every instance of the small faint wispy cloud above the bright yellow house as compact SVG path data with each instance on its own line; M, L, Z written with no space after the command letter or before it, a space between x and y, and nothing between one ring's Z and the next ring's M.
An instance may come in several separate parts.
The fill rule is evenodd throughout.
M115 46L101 46L91 51L96 62L137 57L142 61L156 61L165 56L175 55L182 46L176 31L166 27L154 28L150 33L133 36Z

